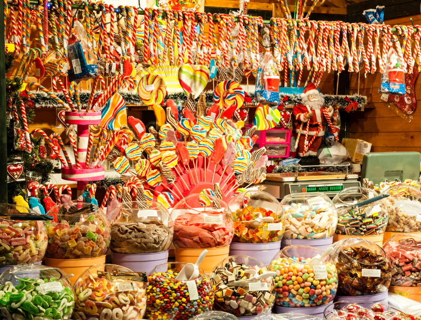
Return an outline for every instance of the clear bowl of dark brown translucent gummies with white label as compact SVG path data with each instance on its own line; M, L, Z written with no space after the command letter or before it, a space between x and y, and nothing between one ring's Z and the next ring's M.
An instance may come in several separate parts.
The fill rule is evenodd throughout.
M342 239L332 245L330 256L338 273L337 301L387 302L391 265L381 246L358 237Z

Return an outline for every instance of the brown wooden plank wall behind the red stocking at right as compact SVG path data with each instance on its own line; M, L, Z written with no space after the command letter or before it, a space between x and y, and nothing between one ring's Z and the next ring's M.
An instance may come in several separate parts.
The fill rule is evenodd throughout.
M387 16L387 13L386 13ZM386 24L411 25L421 24L421 15L411 15L386 20ZM416 64L415 64L416 65ZM368 97L368 105L363 111L350 113L350 137L359 138L372 143L371 152L384 151L419 151L421 152L421 96L416 96L417 108L410 122L397 115L389 102L380 100L378 87L381 74L360 74L359 93ZM351 73L349 94L358 91L358 74ZM421 92L421 82L415 82L415 95Z

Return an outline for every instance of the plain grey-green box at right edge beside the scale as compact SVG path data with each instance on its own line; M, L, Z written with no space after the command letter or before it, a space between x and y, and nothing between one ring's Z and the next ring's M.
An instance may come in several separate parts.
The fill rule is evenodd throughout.
M418 180L421 153L419 152L368 152L361 165L361 181L367 178L374 184L384 180Z

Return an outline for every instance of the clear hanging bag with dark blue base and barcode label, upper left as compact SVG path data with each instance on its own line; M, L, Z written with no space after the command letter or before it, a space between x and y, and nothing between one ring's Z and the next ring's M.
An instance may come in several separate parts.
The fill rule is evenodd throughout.
M69 36L69 81L93 79L98 73L98 60L82 23L75 21Z

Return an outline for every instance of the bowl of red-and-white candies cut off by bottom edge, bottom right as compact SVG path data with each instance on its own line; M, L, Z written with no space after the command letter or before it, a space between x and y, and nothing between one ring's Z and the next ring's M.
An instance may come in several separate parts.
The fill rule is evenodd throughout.
M328 320L410 320L411 318L387 303L364 300L344 300L326 307L324 316Z

